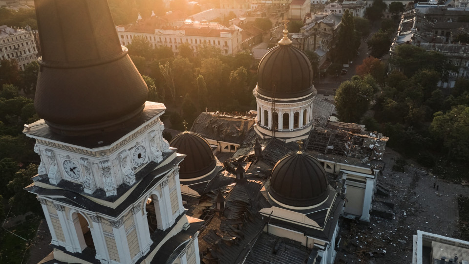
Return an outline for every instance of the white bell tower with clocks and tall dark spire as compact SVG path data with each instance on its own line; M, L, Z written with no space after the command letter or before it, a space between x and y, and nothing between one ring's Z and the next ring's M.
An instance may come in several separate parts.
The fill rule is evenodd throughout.
M107 1L35 6L43 51L35 108L43 119L23 132L36 140L41 164L25 190L41 202L54 259L199 264L198 225L182 206L184 155L163 138L166 108L146 102Z

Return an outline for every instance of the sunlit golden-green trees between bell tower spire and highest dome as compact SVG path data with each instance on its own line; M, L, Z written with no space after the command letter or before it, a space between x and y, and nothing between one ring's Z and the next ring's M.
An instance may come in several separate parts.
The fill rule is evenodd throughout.
M130 57L149 86L149 100L164 102L182 114L174 121L189 124L205 108L209 110L249 110L256 85L254 59L249 52L224 56L213 45L200 44L197 53L188 44L152 48L148 40L136 37L128 45ZM178 107L182 104L182 108ZM173 115L177 116L177 113ZM173 123L173 122L171 122ZM175 129L181 129L177 121Z

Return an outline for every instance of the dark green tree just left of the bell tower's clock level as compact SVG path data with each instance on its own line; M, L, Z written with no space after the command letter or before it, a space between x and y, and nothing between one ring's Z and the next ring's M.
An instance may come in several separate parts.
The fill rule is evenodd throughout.
M11 210L13 213L24 214L31 211L35 214L41 214L42 209L38 199L36 199L36 195L23 190L23 188L33 182L31 177L36 174L38 174L38 165L30 164L26 169L19 170L13 180L8 183L8 189L14 194L8 200L8 203L12 206Z

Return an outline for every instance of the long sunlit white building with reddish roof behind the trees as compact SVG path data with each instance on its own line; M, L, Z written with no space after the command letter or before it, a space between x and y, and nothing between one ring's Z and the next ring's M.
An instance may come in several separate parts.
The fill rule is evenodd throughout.
M222 54L233 55L241 49L241 32L229 29L213 22L194 22L186 20L183 25L168 29L149 28L146 25L118 26L117 34L122 45L132 43L136 36L146 38L155 48L159 46L171 47L177 54L180 44L189 44L197 52L199 44L209 44L220 48Z

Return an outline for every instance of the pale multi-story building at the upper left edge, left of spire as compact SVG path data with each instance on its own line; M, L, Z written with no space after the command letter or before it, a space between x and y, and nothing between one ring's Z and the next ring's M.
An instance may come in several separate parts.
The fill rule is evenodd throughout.
M0 59L15 59L21 70L24 70L24 66L36 60L37 53L31 27L27 26L24 30L0 26Z

